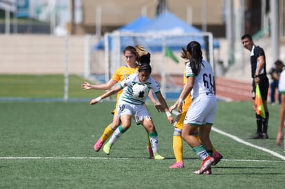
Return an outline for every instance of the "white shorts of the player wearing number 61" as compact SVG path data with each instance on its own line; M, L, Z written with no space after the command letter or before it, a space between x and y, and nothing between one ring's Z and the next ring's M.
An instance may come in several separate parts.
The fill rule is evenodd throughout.
M215 96L202 96L193 100L189 107L184 124L202 126L213 124L217 111L217 99Z

